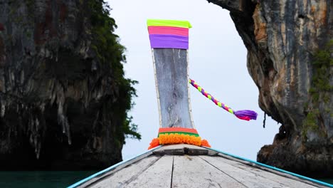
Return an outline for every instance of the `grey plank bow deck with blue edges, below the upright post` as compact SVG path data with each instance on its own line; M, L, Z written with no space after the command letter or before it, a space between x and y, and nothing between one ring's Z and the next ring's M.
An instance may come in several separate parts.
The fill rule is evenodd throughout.
M331 187L263 165L206 147L166 145L72 187Z

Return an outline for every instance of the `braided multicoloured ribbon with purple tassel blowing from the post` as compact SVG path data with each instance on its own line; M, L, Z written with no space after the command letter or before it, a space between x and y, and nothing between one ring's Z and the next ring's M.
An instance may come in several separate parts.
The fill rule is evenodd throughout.
M227 105L219 102L211 94L209 94L205 90L203 90L203 88L201 88L200 85L198 85L191 78L189 79L189 83L191 83L191 85L193 85L194 88L196 88L197 90L199 90L199 92L201 92L202 95L205 95L206 98L208 98L209 100L213 101L213 103L215 103L219 107L223 108L224 110L228 111L229 113L232 113L233 115L236 115L236 117L238 117L240 120L247 120L247 121L249 121L249 120L256 120L257 119L257 115L258 114L255 113L255 111L252 111L252 110L238 110L238 111L233 111L233 109L231 109Z

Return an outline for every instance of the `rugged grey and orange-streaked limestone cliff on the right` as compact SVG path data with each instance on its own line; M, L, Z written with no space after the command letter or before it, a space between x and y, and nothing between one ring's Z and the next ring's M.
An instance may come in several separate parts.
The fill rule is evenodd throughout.
M231 11L260 108L281 124L258 162L332 177L333 1L210 2Z

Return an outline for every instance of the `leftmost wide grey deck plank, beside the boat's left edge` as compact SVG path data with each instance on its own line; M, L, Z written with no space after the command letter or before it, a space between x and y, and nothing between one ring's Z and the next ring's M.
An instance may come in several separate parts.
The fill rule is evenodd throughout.
M126 187L127 184L139 177L142 172L151 167L157 160L159 160L159 158L161 157L150 155L149 157L139 160L138 162L129 164L129 166L120 169L116 173L112 173L109 176L98 179L97 182L89 187Z

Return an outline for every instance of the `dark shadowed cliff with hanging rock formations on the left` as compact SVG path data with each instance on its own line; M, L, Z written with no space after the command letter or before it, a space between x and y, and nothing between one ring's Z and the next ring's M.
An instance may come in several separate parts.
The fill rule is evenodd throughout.
M0 0L1 169L96 169L139 135L100 0Z

